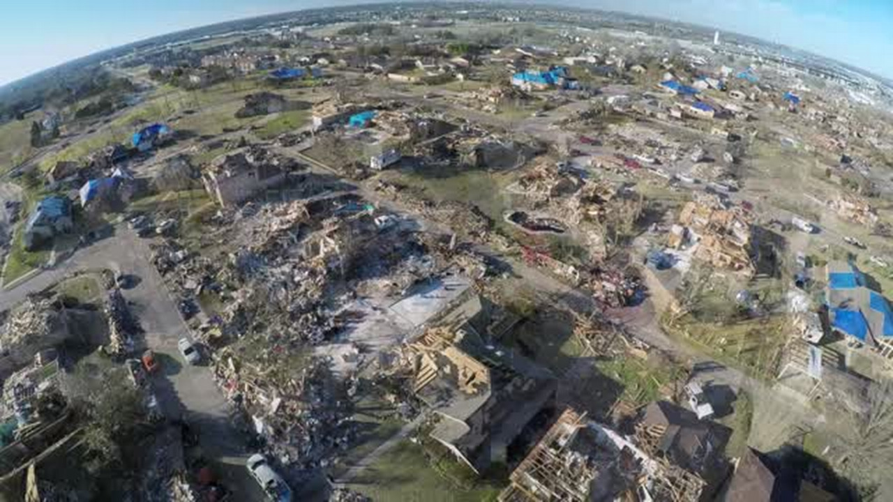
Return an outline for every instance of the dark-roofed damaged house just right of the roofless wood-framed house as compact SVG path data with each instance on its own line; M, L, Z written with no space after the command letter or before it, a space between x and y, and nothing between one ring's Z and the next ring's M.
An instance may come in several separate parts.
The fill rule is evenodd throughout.
M720 428L718 424L698 420L686 408L656 401L646 406L636 424L636 438L648 455L692 473L705 473L721 460L728 438L716 433Z

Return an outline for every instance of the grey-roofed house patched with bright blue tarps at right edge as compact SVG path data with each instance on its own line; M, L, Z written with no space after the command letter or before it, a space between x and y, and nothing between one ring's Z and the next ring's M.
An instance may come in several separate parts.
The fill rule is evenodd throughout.
M893 310L887 298L867 286L853 264L828 264L826 291L832 330L893 355Z

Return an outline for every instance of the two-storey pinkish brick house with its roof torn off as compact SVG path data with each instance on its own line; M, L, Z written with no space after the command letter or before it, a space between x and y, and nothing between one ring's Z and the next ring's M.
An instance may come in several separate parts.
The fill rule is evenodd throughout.
M281 185L288 167L288 159L249 146L215 159L202 173L202 182L218 204L236 205Z

